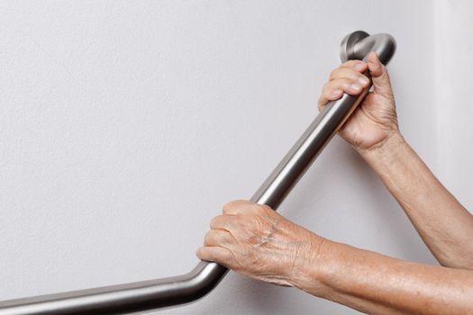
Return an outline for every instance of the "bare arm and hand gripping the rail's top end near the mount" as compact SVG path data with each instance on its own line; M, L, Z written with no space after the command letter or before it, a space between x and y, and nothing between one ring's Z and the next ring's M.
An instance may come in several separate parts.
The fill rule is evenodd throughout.
M373 54L368 65L352 61L332 72L319 107L353 89L368 67L370 92L340 135L387 185L442 266L473 269L473 216L432 175L409 147L397 125L396 104L387 69Z

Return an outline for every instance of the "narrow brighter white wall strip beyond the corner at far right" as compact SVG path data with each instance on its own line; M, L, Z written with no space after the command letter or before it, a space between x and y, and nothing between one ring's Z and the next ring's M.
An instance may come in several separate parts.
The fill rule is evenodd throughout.
M473 209L473 2L438 1L437 139L439 175L460 202Z

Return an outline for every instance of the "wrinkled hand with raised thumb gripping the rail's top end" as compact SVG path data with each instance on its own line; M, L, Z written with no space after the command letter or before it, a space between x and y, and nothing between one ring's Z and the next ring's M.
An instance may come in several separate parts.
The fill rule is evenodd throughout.
M329 82L323 86L318 103L322 110L328 102L341 98L343 93L361 94L369 84L368 77L363 75L367 70L374 89L340 130L341 138L359 151L377 148L391 135L399 132L396 104L387 69L378 60L376 53L368 55L368 63L350 60L333 70Z

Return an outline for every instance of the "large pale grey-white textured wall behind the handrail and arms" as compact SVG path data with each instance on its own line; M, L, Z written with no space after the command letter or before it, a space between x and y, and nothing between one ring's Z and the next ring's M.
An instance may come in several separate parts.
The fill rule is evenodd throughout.
M456 107L442 120L437 102L462 100L440 86L469 60L471 39L462 50L455 44L467 43L450 38L463 24L447 28L441 10L461 5L468 1L0 2L0 300L190 270L208 221L223 203L250 197L312 121L342 37L359 29L396 37L389 69L405 137L471 204L462 188L471 186L463 168L472 174L471 148L460 140L472 127L454 109L471 108L446 102ZM453 45L434 54L439 39ZM461 71L450 87L468 95ZM341 139L281 212L324 237L434 263ZM235 274L205 299L159 313L223 312L354 313Z

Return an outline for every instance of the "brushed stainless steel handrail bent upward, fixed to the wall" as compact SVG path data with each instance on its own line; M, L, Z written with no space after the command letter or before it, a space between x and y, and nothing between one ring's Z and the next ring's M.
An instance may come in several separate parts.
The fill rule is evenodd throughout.
M396 41L388 34L369 36L364 31L355 31L341 42L341 60L364 59L368 52L376 51L381 62L387 64L395 50ZM343 94L340 100L328 103L250 200L276 209L367 93L368 88L359 96ZM0 315L126 314L155 310L196 301L214 289L227 272L223 266L201 261L186 275L0 302Z

